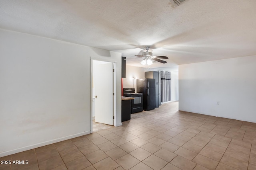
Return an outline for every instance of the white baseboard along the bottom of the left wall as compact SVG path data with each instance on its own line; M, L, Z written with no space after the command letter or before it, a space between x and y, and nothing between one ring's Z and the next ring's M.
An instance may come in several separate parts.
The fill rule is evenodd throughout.
M15 153L18 153L18 152L23 152L25 150L35 149L35 148L38 148L38 147L43 147L45 145L50 145L50 144L57 143L57 142L60 142L60 141L65 141L65 140L72 139L72 138L75 138L75 137L80 137L80 136L87 135L87 134L90 134L90 133L91 133L91 131L86 131L86 132L82 132L82 133L77 133L75 135L70 135L70 136L59 138L59 139L54 139L54 140L51 140L51 141L37 143L37 144L34 144L34 145L30 145L30 146L26 146L26 147L22 147L22 148L18 148L18 149L8 150L8 151L5 151L5 152L1 152L0 153L0 158L4 157L4 156L7 156L7 155L15 154Z

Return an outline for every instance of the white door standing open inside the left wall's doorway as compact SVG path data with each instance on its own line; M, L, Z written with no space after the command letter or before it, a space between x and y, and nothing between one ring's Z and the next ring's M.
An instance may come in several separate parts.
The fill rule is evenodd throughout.
M113 63L93 63L95 122L114 125Z

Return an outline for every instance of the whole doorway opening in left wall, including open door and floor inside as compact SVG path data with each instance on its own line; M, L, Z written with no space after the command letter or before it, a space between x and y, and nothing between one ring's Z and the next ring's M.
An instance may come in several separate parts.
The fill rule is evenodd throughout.
M92 60L91 132L114 125L115 63Z

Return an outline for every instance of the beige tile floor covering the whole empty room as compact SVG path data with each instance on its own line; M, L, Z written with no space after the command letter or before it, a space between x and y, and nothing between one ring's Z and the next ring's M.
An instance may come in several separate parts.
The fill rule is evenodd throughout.
M121 127L20 152L0 170L256 170L256 123L178 111L132 114Z

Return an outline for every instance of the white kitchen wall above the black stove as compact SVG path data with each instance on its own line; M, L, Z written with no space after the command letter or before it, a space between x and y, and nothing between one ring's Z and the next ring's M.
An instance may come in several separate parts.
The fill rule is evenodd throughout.
M145 78L146 68L126 65L126 78L123 78L123 88L132 88L134 86L136 92L136 78ZM133 84L134 83L134 84Z

